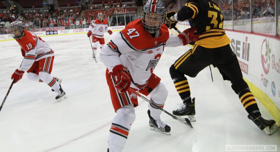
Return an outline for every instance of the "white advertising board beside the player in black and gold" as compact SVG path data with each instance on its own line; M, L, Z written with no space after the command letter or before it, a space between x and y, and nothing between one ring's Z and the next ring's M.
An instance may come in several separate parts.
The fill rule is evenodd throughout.
M264 92L280 109L280 40L226 31L243 77ZM265 102L265 101L264 101Z

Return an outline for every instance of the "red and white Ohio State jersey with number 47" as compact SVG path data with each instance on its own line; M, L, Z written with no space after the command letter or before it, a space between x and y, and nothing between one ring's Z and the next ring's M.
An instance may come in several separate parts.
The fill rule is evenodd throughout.
M143 85L147 83L159 62L164 47L181 45L182 39L169 35L166 25L162 25L153 38L144 29L141 19L138 19L130 22L101 49L100 59L109 72L116 65L124 65L128 68L133 82Z

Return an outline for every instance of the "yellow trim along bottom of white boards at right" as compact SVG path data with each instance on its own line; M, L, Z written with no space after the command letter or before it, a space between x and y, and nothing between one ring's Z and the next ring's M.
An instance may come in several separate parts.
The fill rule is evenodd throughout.
M267 111L271 114L273 119L276 121L277 125L280 126L280 110L275 105L275 103L267 96L264 92L262 92L257 86L253 83L246 80L246 83L250 87L250 91L254 94L255 98L260 101L262 105L267 109Z

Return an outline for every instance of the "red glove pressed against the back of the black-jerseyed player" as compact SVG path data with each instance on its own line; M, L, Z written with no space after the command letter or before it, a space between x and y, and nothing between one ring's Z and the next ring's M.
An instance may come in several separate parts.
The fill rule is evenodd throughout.
M178 35L178 37L183 40L183 45L187 45L190 42L195 42L199 39L199 35L194 35L196 31L196 28L191 27L189 29L184 30Z

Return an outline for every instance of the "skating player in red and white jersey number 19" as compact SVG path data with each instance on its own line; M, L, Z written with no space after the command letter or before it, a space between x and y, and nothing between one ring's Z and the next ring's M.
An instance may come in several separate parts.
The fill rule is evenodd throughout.
M11 79L15 79L14 83L16 83L22 78L24 72L27 72L29 80L45 82L52 88L52 91L57 92L55 97L57 101L66 99L65 92L60 85L61 79L50 75L55 58L54 51L42 38L24 29L24 23L21 21L11 23L11 36L20 44L24 57L20 68L15 70Z

